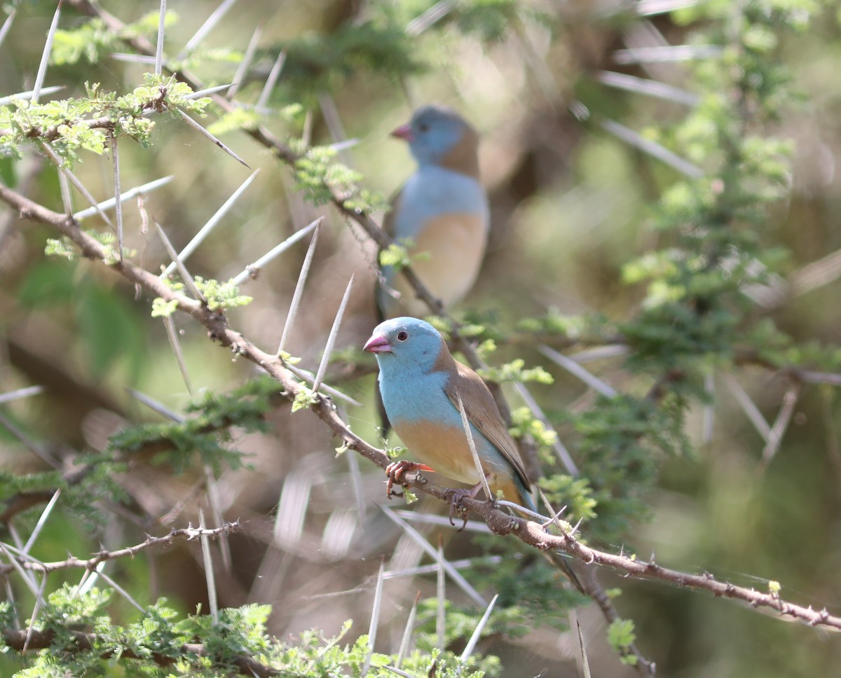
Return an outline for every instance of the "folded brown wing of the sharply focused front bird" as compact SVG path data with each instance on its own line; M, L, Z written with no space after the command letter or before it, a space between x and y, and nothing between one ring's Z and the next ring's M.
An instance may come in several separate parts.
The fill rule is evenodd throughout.
M482 381L482 377L471 370L467 365L462 365L458 360L452 361L456 365L456 374L447 380L444 390L450 402L458 410L458 394L461 394L464 410L467 412L468 420L485 438L493 443L496 449L505 456L510 465L514 467L517 475L520 476L523 485L531 487L532 483L526 475L526 466L523 464L520 452L505 423L500 416L500 410L496 407L494 397L490 394L488 386Z

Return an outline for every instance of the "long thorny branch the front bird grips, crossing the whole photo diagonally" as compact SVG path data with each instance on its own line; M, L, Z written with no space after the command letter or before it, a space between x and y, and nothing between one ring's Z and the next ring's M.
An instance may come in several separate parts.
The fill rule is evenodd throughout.
M269 355L258 349L254 344L243 337L242 334L231 329L223 313L212 312L201 302L189 299L184 295L173 292L157 276L148 271L138 268L129 260L108 262L106 251L102 244L93 239L90 235L79 229L77 223L71 216L53 212L41 205L19 195L16 192L0 185L0 200L6 202L13 208L17 208L23 218L28 218L40 223L53 226L62 234L73 240L82 253L89 258L100 260L118 271L122 276L131 282L145 286L151 292L167 300L177 302L177 307L184 313L189 313L202 323L208 331L210 339L220 342L230 348L238 355L251 360L255 365L274 377L283 386L283 395L294 400L299 395L310 398L308 405L315 415L331 429L347 449L352 449L373 461L374 464L384 469L389 464L389 457L382 449L373 447L365 440L354 434L347 424L336 413L330 397L320 393L309 392L304 389L306 386L298 381L292 372L283 365L283 360L275 355ZM447 488L436 486L422 476L405 474L401 480L414 487L416 490L436 497L443 502L449 502L451 493ZM703 591L710 591L714 596L726 597L748 603L751 607L765 607L779 612L784 617L791 617L810 626L822 626L841 630L841 618L830 615L824 608L820 611L812 607L802 607L792 602L784 601L775 593L761 593L754 589L734 586L727 581L717 581L714 576L692 575L678 570L669 570L661 567L653 560L643 562L634 560L624 555L606 553L579 543L577 539L568 535L556 535L547 532L547 529L523 518L516 518L507 512L503 512L492 502L480 502L475 499L463 499L462 505L465 510L477 513L495 534L511 534L528 544L542 551L560 550L572 555L584 565L607 566L627 576L637 579L648 579L666 581L675 586L685 586Z

